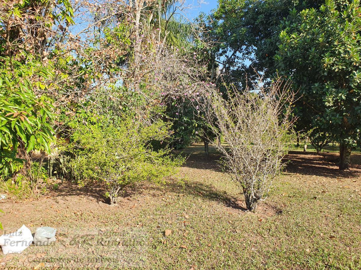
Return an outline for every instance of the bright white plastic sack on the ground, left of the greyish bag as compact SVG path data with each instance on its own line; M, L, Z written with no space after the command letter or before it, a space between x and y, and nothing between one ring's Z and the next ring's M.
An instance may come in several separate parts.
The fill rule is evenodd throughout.
M25 225L22 225L14 233L1 235L0 246L4 254L21 253L31 245L32 240L31 231Z

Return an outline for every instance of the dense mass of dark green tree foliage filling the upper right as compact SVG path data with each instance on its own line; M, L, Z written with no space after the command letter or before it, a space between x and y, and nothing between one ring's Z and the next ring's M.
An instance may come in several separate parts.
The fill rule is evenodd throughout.
M223 81L243 91L260 75L291 79L295 129L318 153L338 141L348 159L360 144L359 1L219 0L201 21L218 44L211 55Z

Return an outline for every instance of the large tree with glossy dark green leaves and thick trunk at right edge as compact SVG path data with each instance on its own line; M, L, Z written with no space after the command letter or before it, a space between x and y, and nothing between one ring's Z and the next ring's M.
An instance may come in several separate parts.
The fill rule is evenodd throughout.
M360 145L360 1L293 9L280 30L275 67L299 89L299 125L331 134L340 144L339 168L347 169L352 148Z

